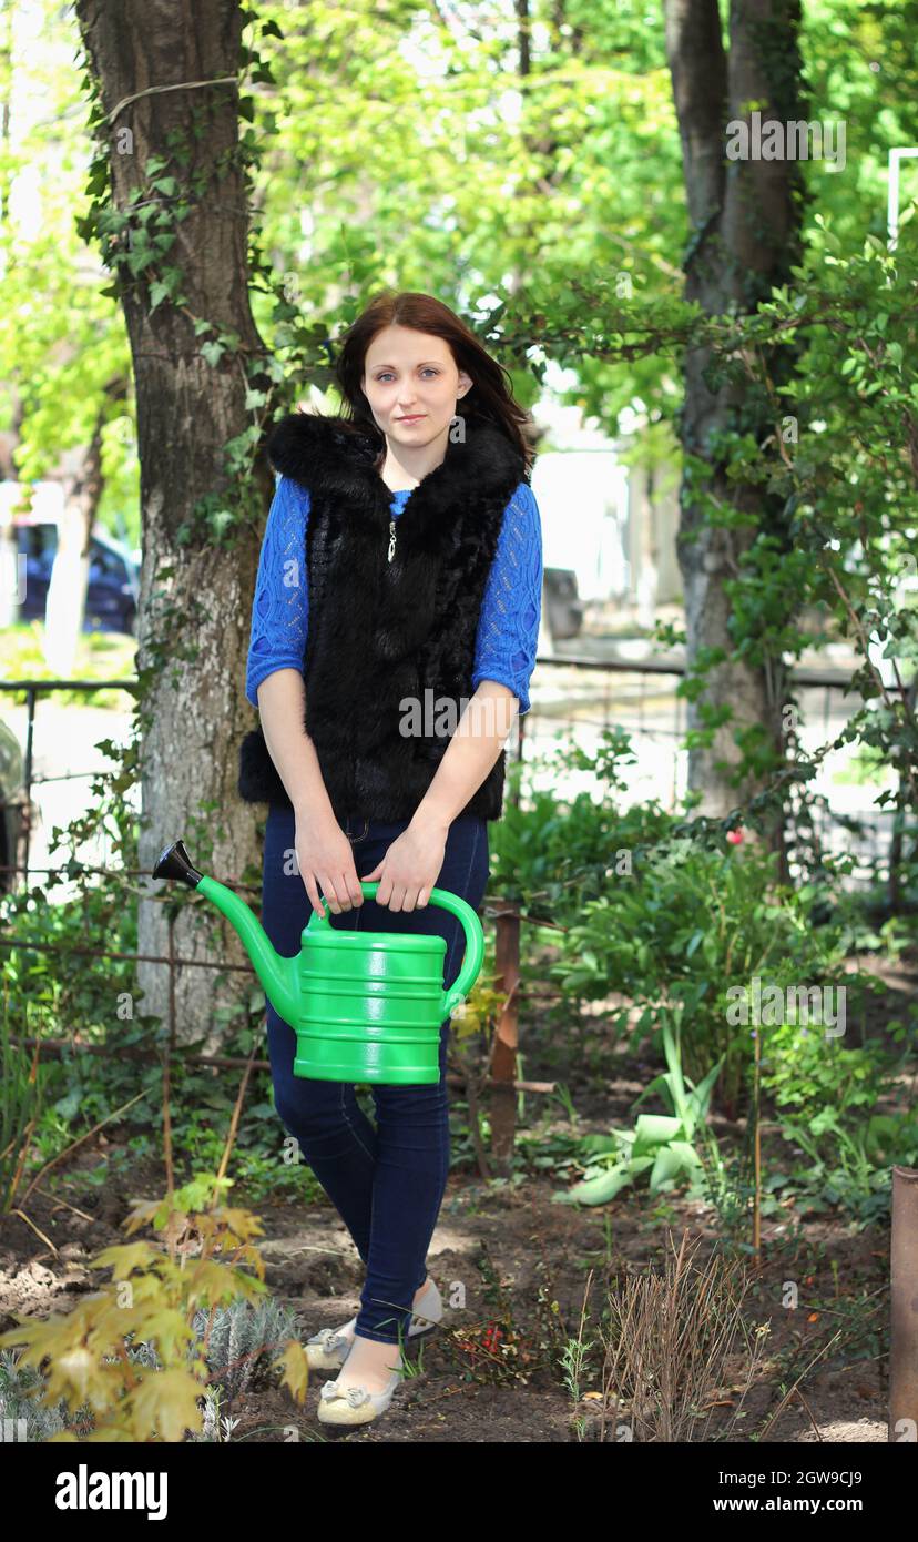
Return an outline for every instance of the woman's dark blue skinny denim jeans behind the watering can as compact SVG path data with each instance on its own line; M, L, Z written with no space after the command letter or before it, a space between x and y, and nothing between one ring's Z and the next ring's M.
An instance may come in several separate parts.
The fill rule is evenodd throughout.
M408 820L343 823L354 851L357 877L371 873ZM290 870L285 873L285 867ZM487 820L454 819L447 833L437 887L465 899L473 910L488 880ZM364 931L420 931L447 942L444 985L454 984L465 953L459 919L430 902L393 911L374 899L336 916L331 927ZM294 814L271 803L265 830L262 925L277 953L293 958L313 905L294 859ZM379 1343L407 1337L414 1292L427 1278L427 1249L450 1172L450 1107L447 1042L450 1019L441 1025L441 1079L436 1086L371 1086L376 1124L357 1103L354 1087L340 1081L294 1076L296 1033L268 1002L268 1052L274 1107L325 1194L342 1217L367 1280L357 1332Z

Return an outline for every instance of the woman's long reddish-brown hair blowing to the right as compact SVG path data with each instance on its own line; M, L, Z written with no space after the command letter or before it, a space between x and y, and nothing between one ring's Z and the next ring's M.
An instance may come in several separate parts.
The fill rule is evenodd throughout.
M533 463L533 444L524 433L524 426L531 432L531 413L514 401L510 375L504 365L498 364L465 322L433 295L382 290L351 322L334 365L337 389L345 409L350 409L343 410L342 416L350 416L379 435L380 446L385 446L385 435L370 410L360 381L370 344L377 332L391 325L413 327L416 332L427 332L448 342L456 367L471 376L465 396L456 402L456 413L470 424L488 423L499 429L519 450L528 472Z

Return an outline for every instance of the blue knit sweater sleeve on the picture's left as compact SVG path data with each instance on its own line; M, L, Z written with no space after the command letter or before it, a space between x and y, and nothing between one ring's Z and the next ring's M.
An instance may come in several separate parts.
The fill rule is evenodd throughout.
M302 669L307 648L307 523L310 493L280 476L268 510L251 609L245 694L257 708L257 689L276 669Z

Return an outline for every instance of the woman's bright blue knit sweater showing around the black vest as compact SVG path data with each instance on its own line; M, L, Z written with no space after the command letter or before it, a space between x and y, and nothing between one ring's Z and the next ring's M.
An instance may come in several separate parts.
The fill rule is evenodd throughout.
M393 493L397 520L411 487ZM245 694L259 705L257 689L276 669L302 669L308 620L305 540L310 493L291 476L279 476L268 512L251 612ZM302 564L302 577L300 577ZM504 510L498 550L485 588L474 649L473 689L496 680L519 697L528 712L528 685L536 665L542 611L542 527L528 483L519 483Z

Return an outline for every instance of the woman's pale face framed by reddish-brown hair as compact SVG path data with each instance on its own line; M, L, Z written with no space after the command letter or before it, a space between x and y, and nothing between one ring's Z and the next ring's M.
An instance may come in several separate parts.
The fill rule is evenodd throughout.
M471 376L456 367L450 344L413 327L384 327L367 348L364 395L376 424L394 444L420 449L448 430Z

